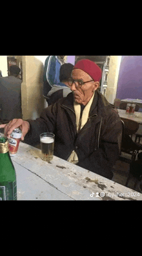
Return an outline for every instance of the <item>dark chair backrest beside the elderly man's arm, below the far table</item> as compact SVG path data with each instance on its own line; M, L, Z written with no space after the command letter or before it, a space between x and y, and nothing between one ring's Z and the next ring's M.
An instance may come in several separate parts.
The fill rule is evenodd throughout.
M121 121L123 121L128 135L132 135L132 134L136 133L136 131L139 129L139 123L137 123L134 120L130 120L127 118L121 118Z

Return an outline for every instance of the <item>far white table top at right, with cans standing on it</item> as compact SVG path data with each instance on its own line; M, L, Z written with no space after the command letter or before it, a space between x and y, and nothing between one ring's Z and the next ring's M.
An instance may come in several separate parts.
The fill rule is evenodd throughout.
M127 118L130 120L134 120L137 123L142 123L142 112L134 112L134 114L126 114L126 110L118 109L118 114L120 118Z

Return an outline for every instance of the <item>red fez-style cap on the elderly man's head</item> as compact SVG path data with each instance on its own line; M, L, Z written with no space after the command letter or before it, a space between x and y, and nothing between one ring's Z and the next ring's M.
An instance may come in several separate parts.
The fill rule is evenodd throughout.
M97 64L91 60L79 60L77 64L74 66L75 69L83 70L85 73L90 75L94 81L100 81L102 76L102 71Z

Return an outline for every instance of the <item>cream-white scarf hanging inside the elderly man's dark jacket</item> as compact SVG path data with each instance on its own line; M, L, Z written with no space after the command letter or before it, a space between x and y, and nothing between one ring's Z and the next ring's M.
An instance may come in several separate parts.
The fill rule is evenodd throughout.
M95 93L94 93L95 95ZM87 103L87 105L85 106L85 109L83 110L83 114L81 117L81 127L80 130L83 128L83 126L85 125L85 123L88 120L88 114L90 112L90 107L92 105L93 99L94 99L94 95L92 96L92 98L90 99L90 101ZM81 115L81 105L76 103L74 101L74 110L76 113L76 128L77 128L77 132L79 130L79 122L80 122L80 115ZM72 162L73 164L77 164L78 162L78 157L77 157L77 153L73 150L70 157L68 157L68 162Z

